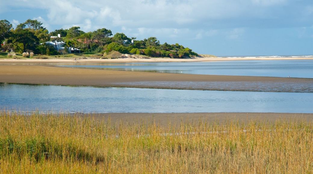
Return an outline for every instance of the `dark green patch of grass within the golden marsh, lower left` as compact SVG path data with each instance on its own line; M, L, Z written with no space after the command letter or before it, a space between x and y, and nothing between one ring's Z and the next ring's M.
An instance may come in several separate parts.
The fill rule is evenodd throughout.
M76 160L83 162L103 162L104 157L90 154L73 142L59 144L43 137L17 140L11 137L0 139L0 159L13 157L21 160L28 157L33 162L42 160Z

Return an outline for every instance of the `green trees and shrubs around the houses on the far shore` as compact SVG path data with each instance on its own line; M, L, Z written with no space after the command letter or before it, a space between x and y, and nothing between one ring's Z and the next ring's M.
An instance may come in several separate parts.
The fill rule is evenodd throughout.
M149 37L144 40L136 40L136 37L127 37L124 33L112 34L111 30L101 28L96 31L84 32L80 27L59 29L49 33L38 20L28 19L20 23L15 29L7 20L0 21L1 49L15 52L33 52L41 55L59 55L67 52L67 49L75 51L80 49L83 52L109 53L119 51L121 53L141 54L150 57L171 57L184 58L197 56L189 48L176 44L160 44L156 37ZM51 37L58 36L60 37ZM3 44L5 41L5 44ZM57 48L48 41L59 43L64 42L65 52L57 51Z

